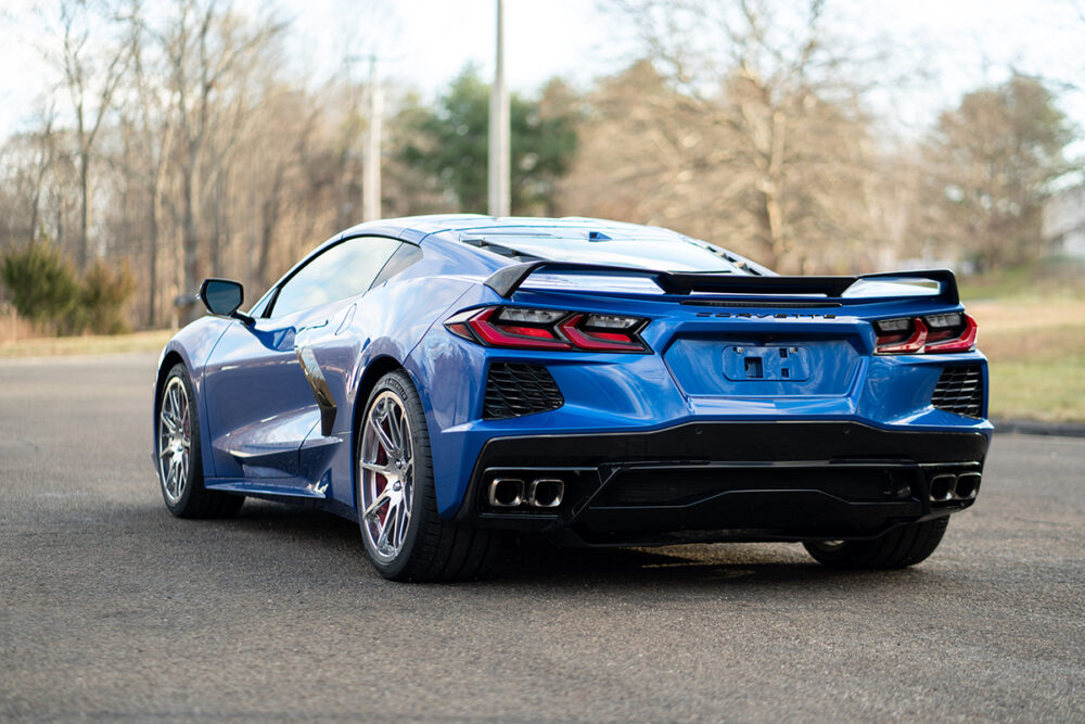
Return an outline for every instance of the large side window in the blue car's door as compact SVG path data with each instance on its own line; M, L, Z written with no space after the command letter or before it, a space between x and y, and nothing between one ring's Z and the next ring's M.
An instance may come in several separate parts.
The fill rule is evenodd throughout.
M384 237L356 237L329 247L283 282L271 316L281 317L361 294L399 243Z

